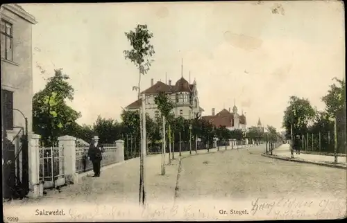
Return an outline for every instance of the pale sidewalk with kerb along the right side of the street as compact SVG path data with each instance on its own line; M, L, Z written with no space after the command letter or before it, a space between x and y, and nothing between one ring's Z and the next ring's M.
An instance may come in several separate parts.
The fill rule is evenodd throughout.
M337 157L337 164L335 164L335 157L316 154L296 154L296 151L294 150L294 159L291 159L289 144L280 145L280 147L273 150L272 154L273 158L282 158L289 161L299 161L303 163L315 163L323 166L346 168L346 157ZM267 156L271 157L269 154L267 154Z

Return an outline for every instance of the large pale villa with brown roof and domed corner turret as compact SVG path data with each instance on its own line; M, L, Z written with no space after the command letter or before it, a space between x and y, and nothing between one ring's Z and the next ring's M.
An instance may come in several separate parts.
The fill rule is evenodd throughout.
M151 87L142 91L142 94L144 93L146 97L146 113L153 119L156 116L160 116L160 111L154 101L155 96L157 96L159 92L166 93L171 102L174 103L172 113L175 117L182 116L185 119L191 119L196 116L201 116L203 109L199 106L198 89L195 80L193 84L190 84L182 77L173 85L171 84L171 80L169 80L168 84L161 81L154 84L153 79L151 79ZM126 109L128 111L137 111L141 104L142 99L135 100L135 102L128 105Z

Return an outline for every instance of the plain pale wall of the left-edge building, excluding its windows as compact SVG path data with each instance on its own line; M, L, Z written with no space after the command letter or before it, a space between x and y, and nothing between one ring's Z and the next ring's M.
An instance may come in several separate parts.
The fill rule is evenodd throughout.
M28 132L32 132L32 24L3 7L1 7L1 19L12 24L13 35L13 61L4 60L1 57L1 89L13 91L13 108L21 110L28 118ZM15 126L25 126L24 118L18 111L13 111L13 116Z

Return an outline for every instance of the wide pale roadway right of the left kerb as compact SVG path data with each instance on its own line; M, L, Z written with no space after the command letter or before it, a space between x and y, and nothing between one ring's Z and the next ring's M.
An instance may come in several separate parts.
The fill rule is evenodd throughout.
M247 150L228 150L183 159L177 201L194 201L194 204L232 202L238 203L237 206L244 203L250 206L255 199L310 199L316 201L316 210L306 217L329 218L346 213L346 170L262 157L264 145L249 151L251 154ZM319 213L318 216L317 206L323 205L322 200L334 200L330 211L339 210L342 214L327 216Z

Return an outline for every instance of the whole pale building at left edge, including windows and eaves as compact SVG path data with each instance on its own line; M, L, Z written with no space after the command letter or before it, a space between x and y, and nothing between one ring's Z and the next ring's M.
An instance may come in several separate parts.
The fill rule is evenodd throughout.
M23 115L28 119L28 132L32 132L31 33L36 23L35 17L17 4L1 6L1 123L9 139L25 127Z

